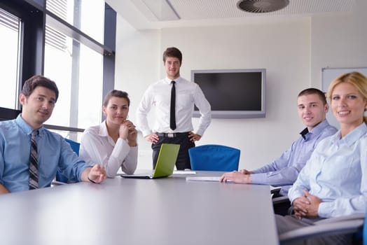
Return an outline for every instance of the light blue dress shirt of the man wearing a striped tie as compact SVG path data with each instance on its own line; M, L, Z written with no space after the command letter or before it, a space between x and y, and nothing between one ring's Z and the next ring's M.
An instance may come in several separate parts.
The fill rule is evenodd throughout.
M30 127L19 115L0 122L0 183L11 193L29 190ZM81 181L81 173L89 164L78 158L59 134L39 129L39 188L50 186L59 168L71 180Z

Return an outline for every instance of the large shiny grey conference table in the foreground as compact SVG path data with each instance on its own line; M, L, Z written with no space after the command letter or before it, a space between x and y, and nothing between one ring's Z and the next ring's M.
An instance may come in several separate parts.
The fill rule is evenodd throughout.
M1 244L279 244L269 186L184 174L1 195L0 229Z

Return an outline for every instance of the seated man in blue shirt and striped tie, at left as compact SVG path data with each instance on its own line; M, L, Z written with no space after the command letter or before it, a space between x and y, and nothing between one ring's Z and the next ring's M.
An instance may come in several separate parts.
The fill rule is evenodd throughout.
M14 120L0 122L0 194L48 187L57 169L72 180L101 183L106 179L102 167L92 167L78 158L59 134L43 127L58 95L52 80L33 76L25 81L20 94L22 113ZM31 151L36 160L30 160Z

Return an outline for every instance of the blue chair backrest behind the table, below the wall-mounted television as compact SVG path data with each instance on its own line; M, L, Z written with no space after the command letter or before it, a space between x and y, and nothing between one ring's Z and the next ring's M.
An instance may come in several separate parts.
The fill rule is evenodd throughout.
M221 145L203 145L188 149L191 169L229 172L238 169L241 151Z

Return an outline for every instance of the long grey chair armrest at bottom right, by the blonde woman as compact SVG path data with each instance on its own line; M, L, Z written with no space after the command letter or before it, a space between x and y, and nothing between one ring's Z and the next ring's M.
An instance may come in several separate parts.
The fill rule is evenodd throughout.
M279 235L279 242L280 244L288 244L296 240L309 239L312 237L356 233L363 228L363 223L364 219L339 221L335 223L317 223L317 225L285 232L282 235Z

